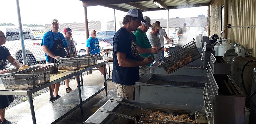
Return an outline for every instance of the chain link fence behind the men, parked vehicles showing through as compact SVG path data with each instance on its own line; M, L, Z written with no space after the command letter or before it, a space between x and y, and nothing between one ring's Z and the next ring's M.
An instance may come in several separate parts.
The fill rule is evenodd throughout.
M88 19L89 18L90 17L88 17ZM199 34L207 36L207 16L204 17L199 15L198 17L193 18L172 18L169 19L169 21L168 19L154 19L154 17L151 17L151 24L156 20L160 21L160 26L165 29L168 37L173 41L178 40L178 35L176 35L177 30L184 22L187 23L187 28L189 29L188 42L192 41L192 38L196 39L196 36ZM87 39L85 35L85 23L60 23L59 25L59 32L62 34L65 27L70 27L71 30L74 31L72 32L72 37L76 45L77 53L81 53L86 50ZM122 26L122 18L116 18L116 30ZM113 36L115 35L114 18L112 21L88 22L88 27L89 34L90 30L96 30L97 37L100 41L100 48L111 47L113 44ZM0 30L3 31L7 37L6 43L3 46L6 46L10 50L10 53L14 58L16 58L20 63L23 63L18 26L0 26ZM51 30L50 24L45 24L42 27L22 26L22 30L28 65L32 66L35 64L45 63L45 55L41 47L41 42L44 33ZM146 34L150 31L151 28L148 29ZM165 43L167 43L166 40ZM8 63L6 64L8 65Z

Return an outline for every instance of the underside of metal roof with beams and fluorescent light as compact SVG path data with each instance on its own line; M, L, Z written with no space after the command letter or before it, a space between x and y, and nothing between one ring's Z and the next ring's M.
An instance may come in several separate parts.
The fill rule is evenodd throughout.
M199 6L208 6L215 0L80 0L83 1L83 7L101 5L116 10L127 12L129 9L137 8L141 11L156 11L190 8ZM161 4L161 9L154 1Z

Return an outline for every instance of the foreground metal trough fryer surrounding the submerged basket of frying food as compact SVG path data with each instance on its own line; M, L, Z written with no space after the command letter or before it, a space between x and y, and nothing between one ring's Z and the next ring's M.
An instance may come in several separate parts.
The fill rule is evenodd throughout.
M143 106L143 109L145 108L157 108L157 110L161 109L174 109L180 110L182 112L185 111L194 111L198 110L197 113L203 113L204 107L203 106L196 106L193 104L180 104L180 103L168 103L168 102L154 102L154 101L141 101L141 100L125 100L121 97L112 97L111 99L115 99L117 101L122 101L125 103L130 103L134 105L140 105ZM86 121L84 121L83 124L133 124L134 120L127 119L124 117L116 116L107 112L101 112L102 110L108 110L111 112L117 112L121 113L127 116L132 116L136 118L137 122L142 123L142 120L140 121L140 118L142 116L141 108L133 107L129 105L123 105L116 102L108 101L103 106L100 107L99 110L97 110L91 117L89 117ZM194 114L194 113L193 113ZM199 119L199 115L196 115ZM142 116L143 117L143 116ZM200 115L200 118L203 118L203 115ZM145 122L149 122L148 120L144 120ZM153 121L153 120L152 120ZM155 124L156 121L153 121ZM183 122L163 122L159 124L184 124ZM190 123L192 124L192 123Z

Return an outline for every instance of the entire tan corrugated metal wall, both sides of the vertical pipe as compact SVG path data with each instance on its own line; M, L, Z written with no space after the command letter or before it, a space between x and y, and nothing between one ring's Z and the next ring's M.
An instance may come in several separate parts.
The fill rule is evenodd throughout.
M211 4L210 35L221 31L221 7L224 0L216 0ZM228 30L228 38L231 43L241 43L246 48L253 48L253 56L256 56L256 0L228 0L228 24L231 26L255 26L255 27L231 27Z

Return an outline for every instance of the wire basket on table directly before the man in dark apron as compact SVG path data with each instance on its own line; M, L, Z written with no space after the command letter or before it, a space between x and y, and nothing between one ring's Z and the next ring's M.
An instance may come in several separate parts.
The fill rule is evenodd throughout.
M56 63L59 63L59 70L77 70L81 68L81 61L78 60L60 60Z

